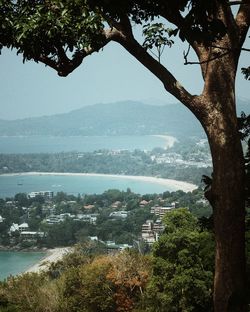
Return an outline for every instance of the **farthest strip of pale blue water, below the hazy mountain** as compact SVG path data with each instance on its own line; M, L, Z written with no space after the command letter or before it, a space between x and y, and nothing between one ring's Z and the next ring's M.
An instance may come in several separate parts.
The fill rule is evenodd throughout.
M93 152L99 149L152 150L165 148L173 137L154 135L135 136L0 136L0 153L58 153Z

